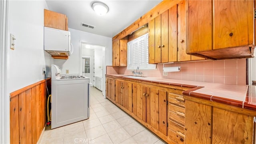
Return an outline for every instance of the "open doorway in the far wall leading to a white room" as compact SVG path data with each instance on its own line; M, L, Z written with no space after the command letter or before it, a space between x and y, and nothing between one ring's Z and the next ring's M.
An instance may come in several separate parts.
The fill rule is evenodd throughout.
M80 42L82 55L82 74L91 78L91 86L102 91L102 66L105 64L105 47Z

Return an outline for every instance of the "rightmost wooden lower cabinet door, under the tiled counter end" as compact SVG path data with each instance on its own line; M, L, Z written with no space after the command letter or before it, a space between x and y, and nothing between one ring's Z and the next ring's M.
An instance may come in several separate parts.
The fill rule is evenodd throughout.
M212 144L252 144L252 116L214 107L212 122Z

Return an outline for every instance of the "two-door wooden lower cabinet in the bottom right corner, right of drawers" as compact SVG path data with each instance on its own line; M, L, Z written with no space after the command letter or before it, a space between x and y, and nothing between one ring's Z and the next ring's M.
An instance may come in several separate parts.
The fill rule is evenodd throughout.
M185 144L252 144L255 112L249 111L186 99Z

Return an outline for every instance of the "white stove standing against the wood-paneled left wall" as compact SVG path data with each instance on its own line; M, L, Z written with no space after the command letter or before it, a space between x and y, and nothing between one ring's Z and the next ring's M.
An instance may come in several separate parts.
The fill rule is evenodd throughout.
M52 128L90 117L90 78L60 72L52 65Z

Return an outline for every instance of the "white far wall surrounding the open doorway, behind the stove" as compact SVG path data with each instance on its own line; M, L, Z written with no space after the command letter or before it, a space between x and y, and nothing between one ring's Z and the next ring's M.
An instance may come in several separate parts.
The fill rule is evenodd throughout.
M105 84L106 78L106 65L112 65L112 38L106 36L100 36L97 34L91 34L88 32L83 32L80 30L74 30L72 28L68 28L71 34L71 43L74 46L73 54L68 58L68 60L58 60L54 59L54 64L60 66L61 70L69 69L69 73L79 73L82 74L82 63L80 59L82 59L82 50L80 50L80 41L92 44L104 46L106 48L106 57L105 57L105 65L103 65L102 70L104 76L102 78L102 83ZM80 55L81 54L81 55ZM80 69L79 69L80 67ZM105 85L103 85L102 89L103 94L105 95Z

